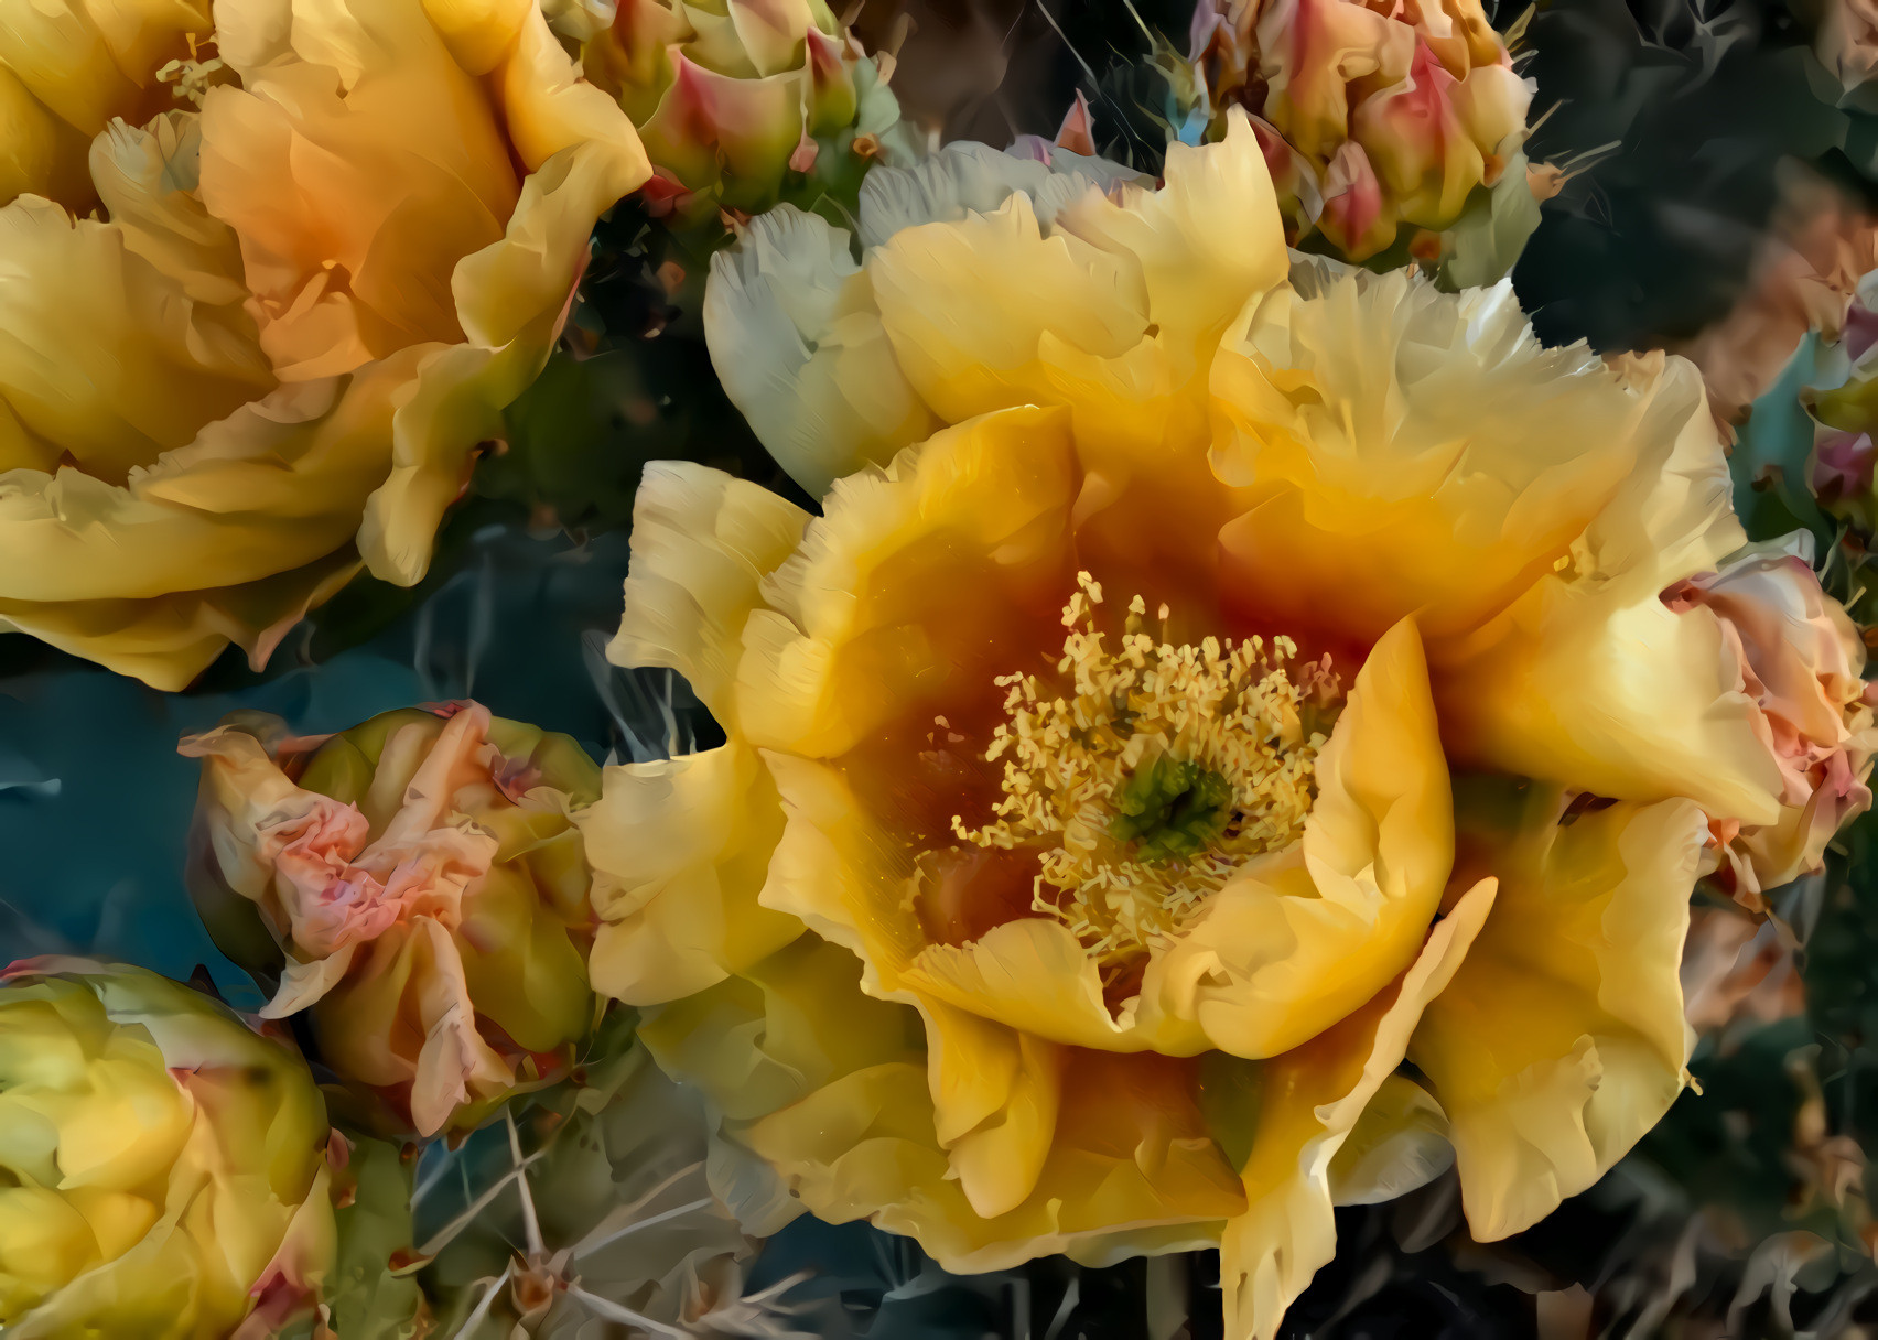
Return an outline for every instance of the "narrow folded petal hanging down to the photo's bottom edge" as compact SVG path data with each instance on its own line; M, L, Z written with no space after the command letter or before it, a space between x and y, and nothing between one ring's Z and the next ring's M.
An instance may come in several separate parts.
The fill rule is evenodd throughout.
M1273 1340L1285 1310L1335 1256L1332 1160L1401 1064L1416 1019L1463 967L1491 906L1493 880L1482 880L1435 923L1397 982L1264 1068L1241 1169L1247 1209L1219 1244L1232 1340Z

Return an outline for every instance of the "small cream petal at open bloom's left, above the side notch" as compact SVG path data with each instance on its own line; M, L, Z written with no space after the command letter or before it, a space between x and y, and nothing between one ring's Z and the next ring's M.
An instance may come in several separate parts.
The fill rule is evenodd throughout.
M808 514L759 484L687 462L652 462L633 499L625 616L607 646L623 666L665 666L727 728L744 623Z

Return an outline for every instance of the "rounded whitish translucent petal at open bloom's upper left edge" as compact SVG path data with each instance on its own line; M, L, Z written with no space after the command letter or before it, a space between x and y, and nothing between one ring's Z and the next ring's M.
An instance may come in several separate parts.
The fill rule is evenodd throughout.
M779 205L712 257L704 291L704 338L725 394L817 497L937 428L847 248L841 229Z

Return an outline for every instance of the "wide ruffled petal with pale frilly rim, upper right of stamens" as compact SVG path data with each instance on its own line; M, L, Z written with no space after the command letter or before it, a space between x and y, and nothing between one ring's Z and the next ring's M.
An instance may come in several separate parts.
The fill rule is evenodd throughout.
M1542 347L1510 283L1450 295L1326 261L1228 336L1211 398L1215 469L1249 490L1223 584L1270 627L1354 642L1407 614L1431 644L1478 627L1626 477L1655 479L1685 422L1709 426L1692 377L1632 390Z

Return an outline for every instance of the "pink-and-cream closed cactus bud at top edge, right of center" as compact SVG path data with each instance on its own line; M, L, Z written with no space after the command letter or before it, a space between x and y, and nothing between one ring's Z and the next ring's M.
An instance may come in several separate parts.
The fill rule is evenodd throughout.
M1538 223L1532 83L1478 0L1202 0L1191 60L1215 133L1232 107L1255 118L1294 242L1315 231L1352 261L1461 248L1480 283Z

